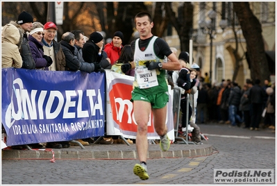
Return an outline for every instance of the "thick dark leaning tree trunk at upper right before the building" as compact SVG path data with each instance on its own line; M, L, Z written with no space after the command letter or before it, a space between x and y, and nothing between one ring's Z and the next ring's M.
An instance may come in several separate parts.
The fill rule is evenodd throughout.
M258 78L262 81L265 78L269 78L269 67L262 40L262 26L259 20L253 15L248 2L234 2L233 7L246 40L252 80Z

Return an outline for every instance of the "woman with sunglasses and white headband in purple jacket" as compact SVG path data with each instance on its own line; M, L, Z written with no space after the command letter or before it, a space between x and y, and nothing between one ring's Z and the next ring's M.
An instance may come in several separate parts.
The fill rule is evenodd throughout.
M53 60L49 56L44 55L42 44L43 35L43 24L34 22L28 39L33 60L35 60L35 69L49 70L49 66L53 63Z

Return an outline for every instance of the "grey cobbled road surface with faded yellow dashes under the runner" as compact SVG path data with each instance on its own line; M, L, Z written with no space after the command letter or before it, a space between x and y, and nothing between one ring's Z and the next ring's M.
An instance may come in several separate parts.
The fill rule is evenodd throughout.
M226 124L199 126L209 138L203 143L212 144L214 152L194 158L149 159L149 180L140 180L133 174L137 160L57 160L56 163L49 160L2 160L1 184L214 185L214 169L275 171L276 135L271 130L229 128Z

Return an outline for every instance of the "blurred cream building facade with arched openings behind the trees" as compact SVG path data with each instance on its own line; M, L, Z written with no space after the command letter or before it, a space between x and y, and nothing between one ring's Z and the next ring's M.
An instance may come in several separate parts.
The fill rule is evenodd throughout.
M240 24L235 12L233 12L232 2L195 2L193 28L191 40L193 43L194 62L201 68L201 76L207 72L212 84L221 83L223 79L233 80L233 74L237 73L235 81L244 85L246 78L251 78L249 63L246 56L246 41L242 34ZM271 66L275 69L275 47L276 47L276 17L275 1L253 1L249 2L250 8L255 17L262 24L262 37L265 43L265 51ZM174 2L172 5L176 10L181 5ZM176 31L172 35L165 37L170 47L180 50L180 40ZM237 44L236 44L237 42ZM237 47L237 55L242 58L237 62L233 51ZM180 52L180 51L179 51ZM273 67L274 65L274 67ZM271 81L275 81L275 70L271 72Z

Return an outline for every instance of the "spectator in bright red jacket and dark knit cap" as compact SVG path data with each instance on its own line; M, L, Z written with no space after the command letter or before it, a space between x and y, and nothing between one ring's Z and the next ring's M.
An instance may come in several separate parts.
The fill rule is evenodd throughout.
M108 54L108 58L110 58L110 64L114 65L115 62L119 59L121 50L123 48L122 45L123 33L121 31L116 31L112 37L112 41L105 45L104 51Z

